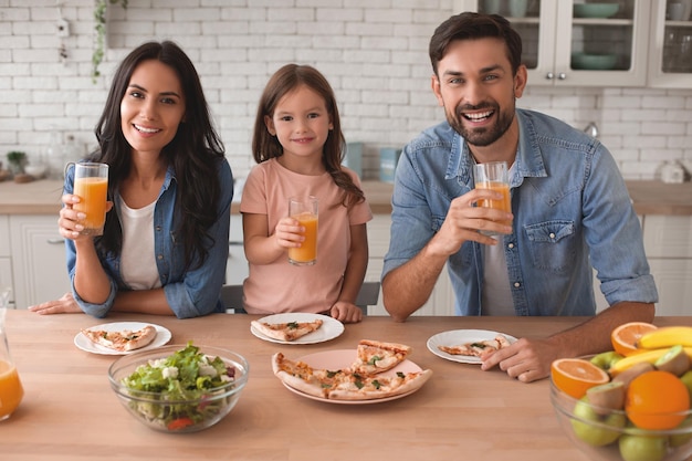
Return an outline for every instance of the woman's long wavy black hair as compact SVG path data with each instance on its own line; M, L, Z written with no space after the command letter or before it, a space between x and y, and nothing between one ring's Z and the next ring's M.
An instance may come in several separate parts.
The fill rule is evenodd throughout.
M119 64L94 130L98 149L91 160L108 164L108 200L113 200L115 190L132 168L132 146L120 127L120 102L133 72L148 60L159 61L176 72L186 102L185 122L161 155L175 171L178 184L175 212L182 217L175 232L185 245L186 268L193 269L203 263L213 244L209 228L218 218L221 185L217 170L224 148L211 123L195 65L177 44L169 41L144 43ZM115 212L107 213L104 234L95 244L99 254L120 254L123 231Z

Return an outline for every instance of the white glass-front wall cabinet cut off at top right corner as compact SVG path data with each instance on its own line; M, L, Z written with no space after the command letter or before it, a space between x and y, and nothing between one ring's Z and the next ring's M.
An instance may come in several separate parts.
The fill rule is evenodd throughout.
M649 86L667 88L692 87L692 0L679 1L683 6L682 19L667 17L673 3L654 1L651 6L651 34L649 41Z

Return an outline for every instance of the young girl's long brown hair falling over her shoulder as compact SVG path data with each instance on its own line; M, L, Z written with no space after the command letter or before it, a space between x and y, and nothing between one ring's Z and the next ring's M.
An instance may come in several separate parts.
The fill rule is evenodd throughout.
M342 161L346 151L346 140L342 133L342 123L338 116L338 107L336 106L336 97L329 82L310 65L286 64L272 75L266 83L260 104L258 114L254 119L254 134L252 136L252 156L258 164L269 160L270 158L281 157L283 147L279 143L277 136L272 136L266 129L264 117L272 117L279 101L296 90L298 86L305 85L317 93L325 102L327 113L332 117L333 129L329 130L327 140L322 149L322 161L325 169L332 176L334 182L344 190L342 205L347 208L353 207L365 200L365 195L353 181L350 176L342 169Z

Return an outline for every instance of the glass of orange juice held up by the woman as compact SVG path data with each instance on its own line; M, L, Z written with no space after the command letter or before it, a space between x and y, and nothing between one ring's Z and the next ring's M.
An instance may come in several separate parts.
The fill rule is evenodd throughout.
M108 165L75 164L73 193L80 196L81 200L72 208L86 214L81 222L84 226L82 235L103 235L108 196Z

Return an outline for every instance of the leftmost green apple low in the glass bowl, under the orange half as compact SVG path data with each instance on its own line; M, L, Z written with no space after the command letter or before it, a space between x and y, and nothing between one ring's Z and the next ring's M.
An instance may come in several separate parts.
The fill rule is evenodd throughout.
M619 429L625 427L627 420L621 412L599 415L589 405L586 396L575 406L574 415L580 420L589 421L584 422L579 419L573 419L572 428L579 440L594 447L602 447L615 442L620 437ZM614 429L611 430L604 426L610 426Z

